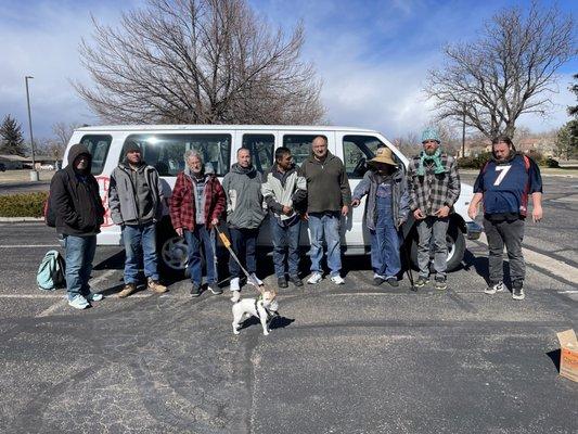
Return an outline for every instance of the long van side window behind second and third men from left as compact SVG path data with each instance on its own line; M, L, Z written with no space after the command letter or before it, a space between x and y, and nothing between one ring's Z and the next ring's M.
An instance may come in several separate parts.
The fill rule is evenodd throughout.
M124 146L130 141L140 146L142 158L160 176L177 176L182 171L184 152L189 150L195 150L203 156L206 173L224 176L231 165L231 135L141 133L127 137ZM120 161L124 158L123 151Z

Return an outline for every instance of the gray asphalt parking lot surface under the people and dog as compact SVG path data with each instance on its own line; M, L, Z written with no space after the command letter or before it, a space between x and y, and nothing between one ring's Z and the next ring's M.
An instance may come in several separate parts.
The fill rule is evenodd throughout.
M555 333L578 330L578 182L547 182L524 302L483 293L480 242L442 294L407 278L374 288L368 259L348 257L345 285L281 292L269 336L253 321L234 336L228 294L191 298L187 281L116 298L115 246L94 261L104 301L69 309L35 284L53 230L0 224L2 432L576 433L578 383L557 373Z

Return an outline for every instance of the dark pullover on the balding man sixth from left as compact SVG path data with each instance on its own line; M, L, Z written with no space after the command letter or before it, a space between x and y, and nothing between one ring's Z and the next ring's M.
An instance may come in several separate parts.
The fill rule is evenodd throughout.
M343 162L331 152L323 162L311 153L301 165L307 180L307 212L339 212L351 203L351 189Z

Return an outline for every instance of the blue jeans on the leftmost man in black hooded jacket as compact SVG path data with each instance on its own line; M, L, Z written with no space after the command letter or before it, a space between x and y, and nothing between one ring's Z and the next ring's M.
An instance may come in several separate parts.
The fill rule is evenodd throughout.
M87 296L90 294L88 281L97 251L97 235L64 235L64 248L68 299L73 299L77 295Z

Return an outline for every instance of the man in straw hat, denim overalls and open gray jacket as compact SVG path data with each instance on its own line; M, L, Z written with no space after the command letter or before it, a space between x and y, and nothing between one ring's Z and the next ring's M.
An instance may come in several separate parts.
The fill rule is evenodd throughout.
M359 206L368 194L364 221L371 233L371 266L373 283L384 281L398 286L401 271L398 228L407 220L410 210L403 167L398 165L389 148L380 148L368 162L369 170L354 191L351 206Z

